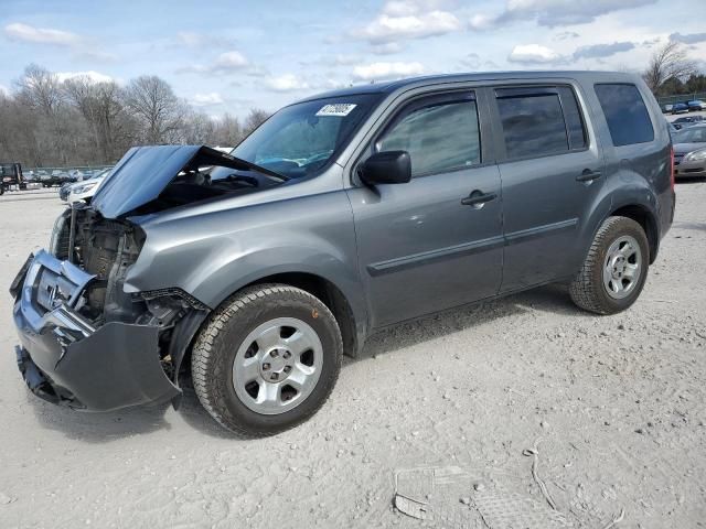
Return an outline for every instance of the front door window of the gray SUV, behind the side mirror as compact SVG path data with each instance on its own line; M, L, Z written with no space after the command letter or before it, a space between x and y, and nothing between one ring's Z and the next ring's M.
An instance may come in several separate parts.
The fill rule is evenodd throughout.
M409 152L413 177L479 164L475 100L463 95L459 100L446 96L413 102L377 140L375 150Z

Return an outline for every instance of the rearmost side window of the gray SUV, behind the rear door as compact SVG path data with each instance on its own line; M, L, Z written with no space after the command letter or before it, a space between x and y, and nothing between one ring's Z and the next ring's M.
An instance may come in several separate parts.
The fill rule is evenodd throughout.
M654 139L650 114L635 85L600 84L595 88L613 145L645 143Z

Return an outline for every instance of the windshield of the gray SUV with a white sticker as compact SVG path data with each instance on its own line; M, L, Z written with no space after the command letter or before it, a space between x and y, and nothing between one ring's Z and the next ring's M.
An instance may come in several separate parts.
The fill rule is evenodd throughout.
M285 107L231 154L290 179L310 176L345 145L379 97L357 94ZM224 171L222 177L227 173ZM220 170L211 174L212 179L218 176Z

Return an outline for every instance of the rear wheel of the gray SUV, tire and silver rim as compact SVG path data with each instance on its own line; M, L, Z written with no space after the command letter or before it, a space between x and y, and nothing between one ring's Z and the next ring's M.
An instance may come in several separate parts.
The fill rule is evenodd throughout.
M640 295L649 266L650 247L642 226L628 217L609 217L569 285L571 300L598 314L624 311Z

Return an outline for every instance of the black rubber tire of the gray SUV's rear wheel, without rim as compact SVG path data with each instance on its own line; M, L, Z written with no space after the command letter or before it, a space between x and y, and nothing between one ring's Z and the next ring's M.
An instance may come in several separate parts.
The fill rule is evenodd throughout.
M641 253L641 272L631 292L622 299L609 295L603 284L603 267L610 246L620 237L630 236L638 241ZM638 223L628 217L608 217L598 229L586 261L569 285L571 300L580 309L597 314L616 314L632 305L648 279L650 246L648 237Z

